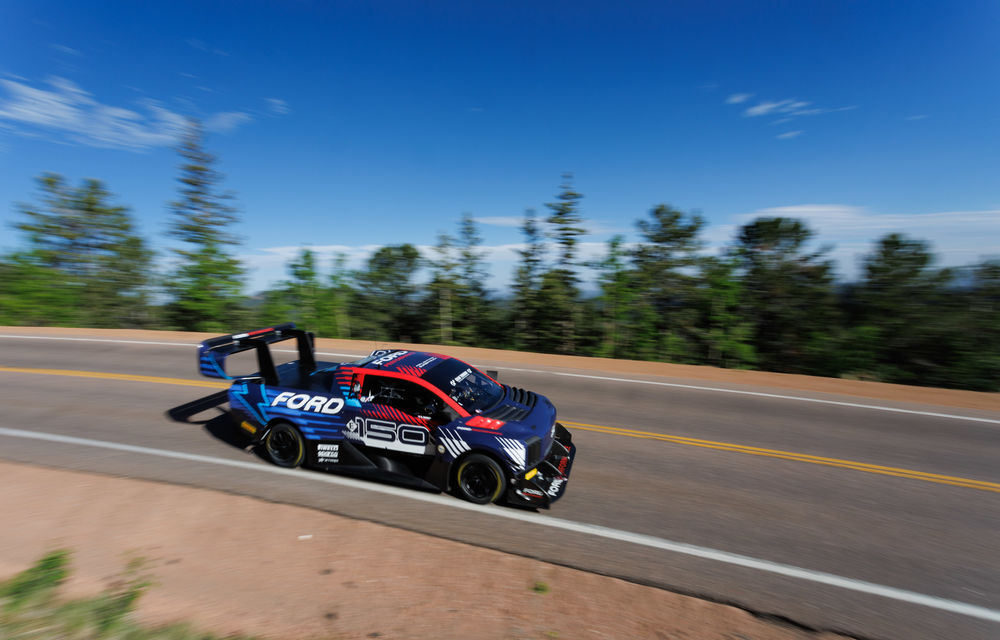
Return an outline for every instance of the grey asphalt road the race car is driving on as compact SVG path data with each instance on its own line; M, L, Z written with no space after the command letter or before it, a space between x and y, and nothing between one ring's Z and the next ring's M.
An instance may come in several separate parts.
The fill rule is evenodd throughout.
M236 446L218 408L183 420L168 415L214 392L180 384L205 380L190 346L0 338L0 428L191 454L0 434L0 458L315 507L859 637L1000 638L1000 411L476 364L547 395L573 431L578 455L569 488L544 515L613 531L595 535L594 527L498 517L512 511L501 507L456 508L447 496L364 488L374 483L331 484L316 472L265 473L272 467ZM0 531L6 526L12 521ZM697 549L637 544L621 533ZM247 535L234 532L234 539ZM828 574L841 582L817 581ZM879 595L858 581L919 597Z

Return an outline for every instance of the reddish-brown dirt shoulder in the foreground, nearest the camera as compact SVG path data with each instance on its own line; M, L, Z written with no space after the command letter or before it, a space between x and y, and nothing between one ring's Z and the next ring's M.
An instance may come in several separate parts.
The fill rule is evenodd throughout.
M142 558L149 624L301 638L834 640L740 609L320 511L0 463L0 577L73 552L70 596Z

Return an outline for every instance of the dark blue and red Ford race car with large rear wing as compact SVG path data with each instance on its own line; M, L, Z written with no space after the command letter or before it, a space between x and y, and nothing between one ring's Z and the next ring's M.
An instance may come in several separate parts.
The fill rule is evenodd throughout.
M271 345L296 341L274 364ZM226 373L255 350L258 371ZM232 380L236 423L281 467L305 466L452 492L476 504L547 509L566 491L576 448L539 394L437 353L380 349L317 362L314 336L286 323L205 340L202 375Z

